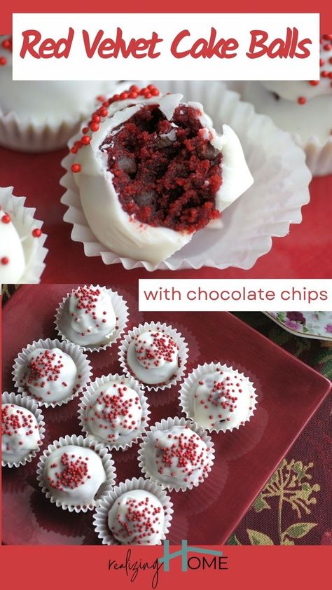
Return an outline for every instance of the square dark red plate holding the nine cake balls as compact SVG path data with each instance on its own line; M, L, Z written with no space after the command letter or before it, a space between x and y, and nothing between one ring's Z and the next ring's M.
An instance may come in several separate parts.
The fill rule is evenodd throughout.
M213 434L216 460L198 488L171 493L174 519L170 542L222 544L275 471L331 383L230 313L139 313L130 273L111 287L123 294L130 310L130 327L160 320L176 327L190 350L188 369L204 362L227 362L254 381L258 409L249 424L226 434ZM4 308L4 390L13 390L13 361L27 343L55 338L57 303L74 285L20 287ZM119 370L118 345L90 354L94 377ZM151 423L180 415L178 387L149 392ZM65 434L79 434L77 399L60 408L43 410L46 444ZM118 481L139 476L137 448L116 451ZM3 469L3 540L6 544L98 544L92 514L69 514L46 500L36 483L38 460L19 469Z

